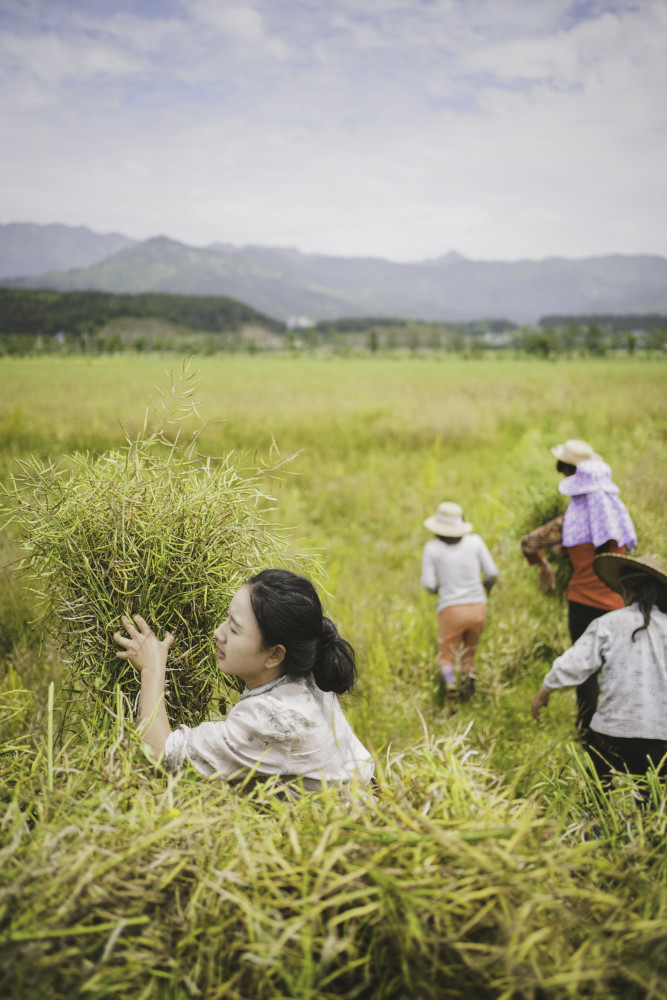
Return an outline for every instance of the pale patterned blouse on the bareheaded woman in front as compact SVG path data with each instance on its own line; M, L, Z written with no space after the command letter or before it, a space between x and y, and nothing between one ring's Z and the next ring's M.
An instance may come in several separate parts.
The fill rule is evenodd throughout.
M367 785L373 759L343 715L338 698L312 678L279 677L246 690L217 722L181 725L167 737L169 766L189 761L201 774L220 778L300 776L304 788L323 782Z

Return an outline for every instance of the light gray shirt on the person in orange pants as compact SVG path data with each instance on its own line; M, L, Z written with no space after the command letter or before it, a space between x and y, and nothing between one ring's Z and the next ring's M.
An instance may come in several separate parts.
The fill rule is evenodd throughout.
M421 585L438 595L437 611L452 604L485 604L485 587L497 578L498 567L479 535L464 535L453 545L432 538L424 546Z

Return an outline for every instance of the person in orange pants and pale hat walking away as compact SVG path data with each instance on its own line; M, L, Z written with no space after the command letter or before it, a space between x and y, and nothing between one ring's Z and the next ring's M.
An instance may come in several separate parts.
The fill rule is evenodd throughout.
M441 503L424 526L436 536L424 546L421 585L438 595L438 671L451 701L457 694L460 652L458 696L467 701L475 690L475 651L486 622L486 595L498 579L498 567L457 503Z

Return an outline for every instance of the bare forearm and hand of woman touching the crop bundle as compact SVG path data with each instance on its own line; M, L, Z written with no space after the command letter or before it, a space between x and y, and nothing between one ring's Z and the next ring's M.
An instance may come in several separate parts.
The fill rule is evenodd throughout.
M164 704L164 685L167 653L174 637L165 632L160 641L140 615L134 615L134 622L123 615L121 621L129 638L116 632L114 639L123 646L116 656L129 660L141 674L137 726L146 742L161 753L171 732Z

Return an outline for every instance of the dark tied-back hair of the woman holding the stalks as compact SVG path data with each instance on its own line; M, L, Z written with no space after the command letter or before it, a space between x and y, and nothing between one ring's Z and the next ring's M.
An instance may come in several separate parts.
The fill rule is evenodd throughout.
M357 679L352 646L322 614L310 580L286 569L264 569L248 580L250 605L264 648L284 646L285 673L312 673L322 691L344 694Z

